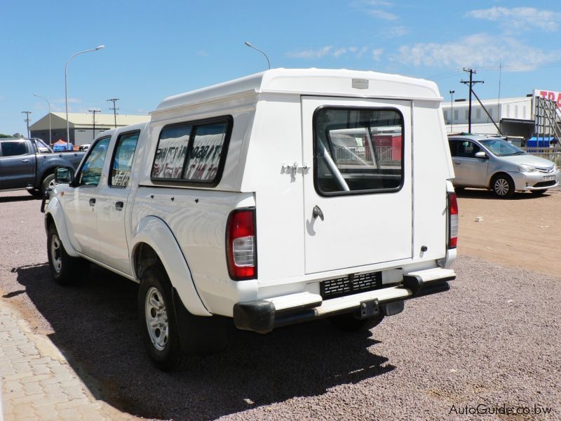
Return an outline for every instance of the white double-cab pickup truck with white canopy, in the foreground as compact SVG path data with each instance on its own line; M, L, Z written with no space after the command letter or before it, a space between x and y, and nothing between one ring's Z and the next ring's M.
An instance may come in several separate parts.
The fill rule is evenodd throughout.
M83 259L140 283L163 369L320 317L370 328L455 278L458 208L435 83L273 69L100 134L46 208L55 281Z

